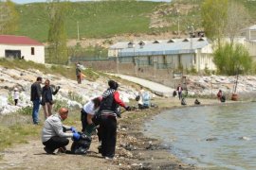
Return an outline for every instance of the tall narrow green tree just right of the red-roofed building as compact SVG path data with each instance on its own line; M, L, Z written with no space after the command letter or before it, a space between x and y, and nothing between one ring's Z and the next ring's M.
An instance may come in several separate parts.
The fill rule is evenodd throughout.
M61 2L60 0L48 1L48 52L50 62L64 64L68 61L64 26L66 11L67 2Z

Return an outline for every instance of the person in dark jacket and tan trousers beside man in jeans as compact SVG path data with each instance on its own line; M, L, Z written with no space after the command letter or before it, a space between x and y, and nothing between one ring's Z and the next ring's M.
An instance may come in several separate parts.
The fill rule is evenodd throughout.
M53 99L52 94L55 95L60 90L60 86L58 86L55 91L53 91L53 88L50 86L50 81L46 79L45 86L43 87L42 91L42 102L41 105L43 106L45 118L50 116L52 114L52 105L53 105Z

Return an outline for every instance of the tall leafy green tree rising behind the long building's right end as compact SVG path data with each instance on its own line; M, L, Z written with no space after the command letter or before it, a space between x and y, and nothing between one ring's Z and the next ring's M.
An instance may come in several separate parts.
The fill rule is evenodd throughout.
M205 0L201 12L202 25L207 37L211 41L217 40L220 45L227 22L228 0Z

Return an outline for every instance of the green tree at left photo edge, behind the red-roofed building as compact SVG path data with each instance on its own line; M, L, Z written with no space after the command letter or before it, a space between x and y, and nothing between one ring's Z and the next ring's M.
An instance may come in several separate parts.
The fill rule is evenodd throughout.
M12 34L18 28L19 15L10 0L0 0L0 34Z

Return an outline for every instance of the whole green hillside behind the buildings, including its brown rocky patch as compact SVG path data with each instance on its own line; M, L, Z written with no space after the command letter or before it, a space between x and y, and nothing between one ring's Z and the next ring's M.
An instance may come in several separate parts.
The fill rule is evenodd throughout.
M256 1L241 1L256 21ZM160 32L177 33L179 15L180 32L185 34L187 26L201 28L200 4L202 0L173 0L173 3L137 1L101 1L70 3L66 16L68 39L76 39L77 24L81 38L110 38L121 34ZM20 13L17 35L27 35L46 42L48 31L46 3L17 5ZM255 23L254 23L255 24Z

